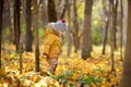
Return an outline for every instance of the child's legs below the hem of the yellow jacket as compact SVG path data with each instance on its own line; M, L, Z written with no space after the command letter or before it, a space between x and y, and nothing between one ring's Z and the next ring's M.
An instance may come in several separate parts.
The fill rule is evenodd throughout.
M48 60L49 63L49 71L55 74L55 71L57 69L57 64L58 64L58 58L52 58Z

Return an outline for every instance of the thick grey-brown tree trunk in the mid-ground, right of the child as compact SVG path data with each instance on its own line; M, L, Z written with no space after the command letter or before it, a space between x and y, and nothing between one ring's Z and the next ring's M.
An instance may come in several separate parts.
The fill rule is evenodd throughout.
M93 0L85 0L85 11L84 11L84 32L82 38L82 58L87 59L91 57L92 51L92 7Z

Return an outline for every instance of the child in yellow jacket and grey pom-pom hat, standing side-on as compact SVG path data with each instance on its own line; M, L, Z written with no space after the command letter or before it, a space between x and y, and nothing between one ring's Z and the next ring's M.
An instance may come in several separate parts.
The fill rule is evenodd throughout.
M61 35L67 30L66 20L56 23L48 23L45 32L44 53L43 57L49 63L49 71L55 74L58 58L62 51Z

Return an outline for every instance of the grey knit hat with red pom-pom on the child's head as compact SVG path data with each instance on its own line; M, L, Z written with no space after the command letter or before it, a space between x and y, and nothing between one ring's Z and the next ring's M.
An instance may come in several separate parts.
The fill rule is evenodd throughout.
M61 20L56 23L48 23L48 26L51 26L56 30L67 30L66 20Z

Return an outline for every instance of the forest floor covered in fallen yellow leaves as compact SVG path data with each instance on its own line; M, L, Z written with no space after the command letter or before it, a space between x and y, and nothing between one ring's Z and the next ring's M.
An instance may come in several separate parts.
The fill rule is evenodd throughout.
M111 72L108 51L100 55L102 47L94 47L94 50L87 60L81 59L78 53L68 58L63 52L55 75L48 72L47 60L41 57L40 72L36 73L35 55L29 52L23 52L23 70L20 74L20 55L10 50L3 51L0 87L119 87L122 75L119 52L115 52L115 72Z

